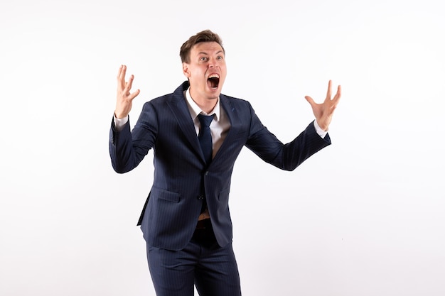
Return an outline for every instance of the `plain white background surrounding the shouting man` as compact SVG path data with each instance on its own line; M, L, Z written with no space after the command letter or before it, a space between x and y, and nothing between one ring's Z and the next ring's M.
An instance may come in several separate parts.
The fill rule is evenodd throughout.
M242 150L230 209L243 295L445 295L441 1L2 1L0 295L154 295L136 227L152 152L112 170L119 65L144 102L223 38L223 93L291 141L328 80L333 145L294 172Z

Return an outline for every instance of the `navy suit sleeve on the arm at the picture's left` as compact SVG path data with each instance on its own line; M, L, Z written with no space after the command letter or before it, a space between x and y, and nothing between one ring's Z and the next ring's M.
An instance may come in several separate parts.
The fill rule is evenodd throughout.
M157 131L156 112L149 102L144 104L136 126L130 131L130 123L117 131L112 121L109 130L109 156L116 172L129 172L136 168L154 146Z

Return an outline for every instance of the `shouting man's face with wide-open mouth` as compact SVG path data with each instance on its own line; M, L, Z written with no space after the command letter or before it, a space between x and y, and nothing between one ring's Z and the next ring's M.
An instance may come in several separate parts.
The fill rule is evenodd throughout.
M218 99L227 75L223 48L216 42L195 44L190 62L183 62L183 73L190 82L191 97L196 102Z

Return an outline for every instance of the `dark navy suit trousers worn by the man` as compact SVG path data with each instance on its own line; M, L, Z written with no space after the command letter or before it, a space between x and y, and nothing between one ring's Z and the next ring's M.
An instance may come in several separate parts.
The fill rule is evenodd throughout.
M232 243L218 246L210 219L204 227L195 230L190 243L181 251L147 246L157 296L193 296L193 285L200 296L241 295Z

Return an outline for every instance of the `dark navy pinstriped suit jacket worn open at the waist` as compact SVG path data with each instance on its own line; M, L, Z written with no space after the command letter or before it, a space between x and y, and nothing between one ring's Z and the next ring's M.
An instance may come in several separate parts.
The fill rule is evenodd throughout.
M294 170L331 143L328 135L318 136L311 123L294 141L283 144L262 125L249 102L221 94L220 106L231 126L206 166L183 94L188 86L183 82L173 94L146 102L132 131L129 122L122 131L113 123L110 129L109 154L116 172L136 168L154 149L154 182L138 225L150 246L169 250L181 250L191 240L203 198L218 244L232 241L230 180L243 146L277 168Z

